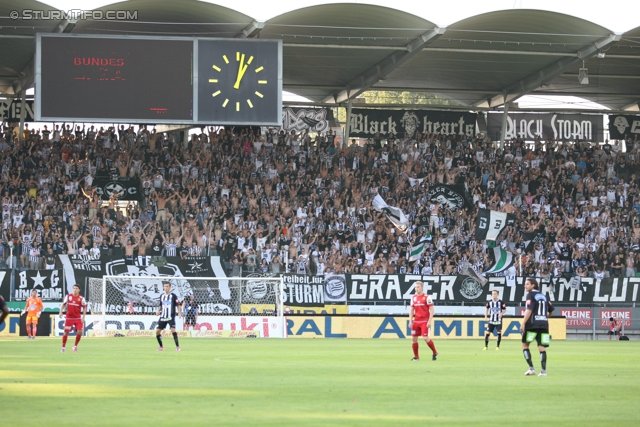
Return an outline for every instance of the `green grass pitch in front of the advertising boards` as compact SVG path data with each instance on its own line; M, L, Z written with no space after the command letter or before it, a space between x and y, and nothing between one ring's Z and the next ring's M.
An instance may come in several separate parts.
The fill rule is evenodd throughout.
M549 376L520 343L409 340L0 339L2 425L640 424L640 342L556 341ZM533 350L536 369L540 362Z

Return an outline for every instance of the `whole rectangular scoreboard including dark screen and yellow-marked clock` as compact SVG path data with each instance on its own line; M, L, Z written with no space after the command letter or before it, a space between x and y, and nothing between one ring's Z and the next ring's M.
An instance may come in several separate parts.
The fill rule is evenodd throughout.
M38 34L38 121L279 126L282 42Z

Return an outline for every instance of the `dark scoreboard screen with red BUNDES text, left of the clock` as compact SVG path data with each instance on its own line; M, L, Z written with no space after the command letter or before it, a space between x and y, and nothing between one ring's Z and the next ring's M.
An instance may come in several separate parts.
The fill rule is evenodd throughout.
M193 121L193 40L40 37L37 53L41 121Z

